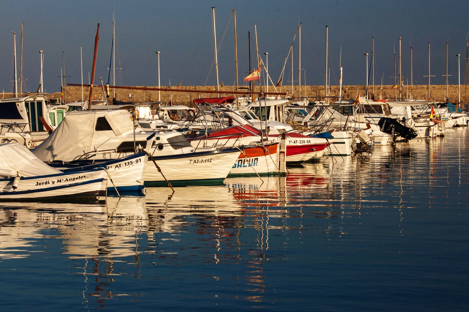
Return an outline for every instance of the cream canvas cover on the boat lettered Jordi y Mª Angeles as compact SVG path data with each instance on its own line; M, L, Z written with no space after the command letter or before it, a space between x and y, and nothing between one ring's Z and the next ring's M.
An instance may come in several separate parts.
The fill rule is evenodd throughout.
M0 177L55 175L61 171L46 165L30 150L17 143L0 144Z

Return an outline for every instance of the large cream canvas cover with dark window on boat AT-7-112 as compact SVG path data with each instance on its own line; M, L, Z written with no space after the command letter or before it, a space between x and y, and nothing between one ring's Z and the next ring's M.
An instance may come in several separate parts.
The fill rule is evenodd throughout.
M94 137L109 137L109 131L95 130L99 117L106 118L115 136L131 130L134 126L130 120L131 114L124 110L69 112L57 129L32 152L43 161L71 161L77 155L91 152L94 150Z

